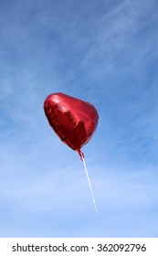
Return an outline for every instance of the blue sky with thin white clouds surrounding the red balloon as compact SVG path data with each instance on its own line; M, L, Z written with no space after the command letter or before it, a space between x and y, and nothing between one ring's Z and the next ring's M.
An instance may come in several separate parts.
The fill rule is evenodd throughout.
M158 236L156 0L0 1L0 237ZM98 129L79 155L43 111L62 91Z

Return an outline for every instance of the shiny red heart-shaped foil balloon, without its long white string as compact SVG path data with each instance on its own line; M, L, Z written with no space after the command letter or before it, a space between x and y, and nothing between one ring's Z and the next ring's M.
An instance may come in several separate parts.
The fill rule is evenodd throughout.
M57 92L47 96L44 102L47 121L62 142L84 156L80 148L90 141L98 124L99 115L87 101Z

